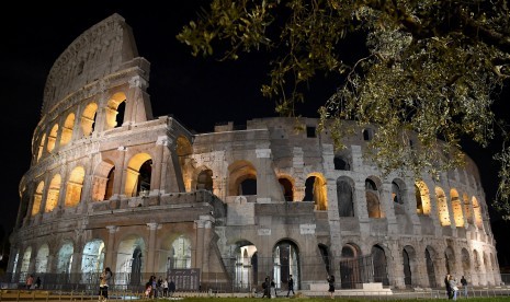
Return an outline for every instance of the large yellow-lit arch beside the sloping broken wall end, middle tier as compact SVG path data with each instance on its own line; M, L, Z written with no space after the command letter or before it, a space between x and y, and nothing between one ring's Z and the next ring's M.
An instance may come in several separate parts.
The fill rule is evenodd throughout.
M147 153L134 155L126 169L126 184L124 194L134 197L150 191L150 178L152 175L152 159Z

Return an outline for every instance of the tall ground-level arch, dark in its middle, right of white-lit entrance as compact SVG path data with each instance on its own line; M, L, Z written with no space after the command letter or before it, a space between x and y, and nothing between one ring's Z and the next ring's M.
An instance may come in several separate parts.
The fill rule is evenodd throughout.
M282 288L282 282L287 282L290 275L294 279L294 289L299 289L299 249L291 240L281 240L273 247L273 278L276 289Z

